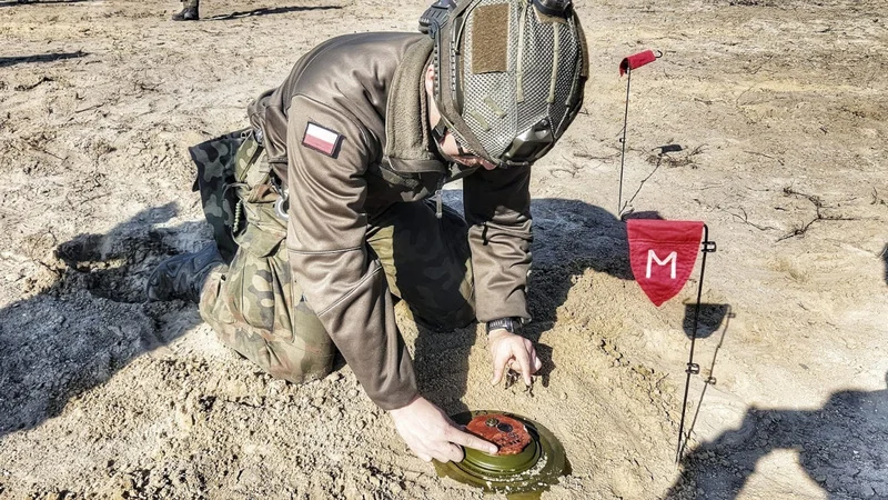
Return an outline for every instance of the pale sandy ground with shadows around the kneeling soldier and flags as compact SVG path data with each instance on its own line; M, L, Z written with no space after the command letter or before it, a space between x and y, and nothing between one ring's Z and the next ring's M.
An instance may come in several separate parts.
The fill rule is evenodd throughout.
M413 457L347 367L303 387L220 344L147 273L209 238L185 148L313 44L413 30L424 2L0 1L0 499L480 497ZM451 412L544 423L544 499L888 499L888 19L877 0L577 1L586 104L535 167L531 398L476 329L417 330ZM674 453L699 269L657 309L617 217L708 224L692 442ZM665 148L666 153L660 153ZM447 193L458 203L458 191ZM699 263L698 263L699 266Z

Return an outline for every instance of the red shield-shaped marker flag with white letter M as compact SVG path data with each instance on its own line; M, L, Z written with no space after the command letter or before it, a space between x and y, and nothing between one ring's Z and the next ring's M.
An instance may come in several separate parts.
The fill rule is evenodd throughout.
M659 307L685 286L700 251L703 222L629 219L629 263L635 281Z

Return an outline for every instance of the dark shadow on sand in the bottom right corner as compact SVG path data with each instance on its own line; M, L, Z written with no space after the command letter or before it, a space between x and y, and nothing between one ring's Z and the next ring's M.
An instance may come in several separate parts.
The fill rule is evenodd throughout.
M799 454L829 499L888 498L886 429L888 389L835 392L816 410L751 408L738 429L682 460L667 498L735 499L759 459L780 449Z

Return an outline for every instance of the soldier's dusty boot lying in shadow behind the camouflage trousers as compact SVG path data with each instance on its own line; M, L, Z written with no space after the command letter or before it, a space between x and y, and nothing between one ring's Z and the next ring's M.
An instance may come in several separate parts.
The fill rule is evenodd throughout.
M182 299L198 303L210 271L224 264L225 261L214 243L199 252L171 257L161 262L148 278L148 301Z

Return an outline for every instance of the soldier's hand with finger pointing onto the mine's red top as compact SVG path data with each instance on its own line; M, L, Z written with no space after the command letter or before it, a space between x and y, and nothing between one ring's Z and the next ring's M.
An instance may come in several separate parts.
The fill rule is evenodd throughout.
M463 459L461 447L496 453L496 444L463 432L450 417L422 396L406 407L391 410L389 413L395 421L395 429L404 442L416 457L426 462L432 459L458 462Z

